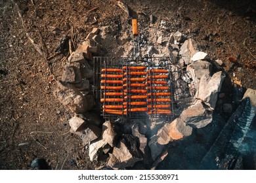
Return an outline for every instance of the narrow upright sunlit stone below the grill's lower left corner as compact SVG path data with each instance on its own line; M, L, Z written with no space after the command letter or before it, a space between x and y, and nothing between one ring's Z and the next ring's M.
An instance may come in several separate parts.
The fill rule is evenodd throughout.
M117 133L114 124L112 124L110 121L104 122L102 125L102 139L110 144L110 146L114 147L116 144L116 135Z

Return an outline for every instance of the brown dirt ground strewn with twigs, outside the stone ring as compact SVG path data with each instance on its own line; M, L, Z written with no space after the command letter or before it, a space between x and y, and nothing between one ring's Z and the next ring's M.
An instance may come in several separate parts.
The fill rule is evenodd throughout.
M244 88L256 89L256 3L245 0L125 0L131 16L114 1L0 0L0 169L32 169L35 158L51 169L95 169L104 162L89 161L87 146L72 135L71 112L53 96L68 52L54 59L63 35L74 49L93 27L114 26L111 44L101 56L121 56L120 39L138 18L140 31L167 21L170 33L181 31L195 39L211 59L224 61L224 71ZM18 12L22 15L20 18ZM128 31L129 32L129 31ZM43 46L43 55L30 39ZM27 145L18 144L28 142Z

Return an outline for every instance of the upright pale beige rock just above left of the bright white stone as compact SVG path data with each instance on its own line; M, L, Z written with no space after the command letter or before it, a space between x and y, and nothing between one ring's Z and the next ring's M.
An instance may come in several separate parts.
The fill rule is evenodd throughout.
M196 54L196 52L198 52L198 45L196 44L196 41L194 41L194 39L188 39L182 44L179 54L182 56L181 59L184 59L184 63L188 65L191 63L191 58Z

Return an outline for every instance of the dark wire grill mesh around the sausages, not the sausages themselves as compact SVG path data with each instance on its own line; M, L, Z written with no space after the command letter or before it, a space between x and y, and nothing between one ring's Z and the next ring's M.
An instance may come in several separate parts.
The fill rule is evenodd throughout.
M178 86L178 82L175 80L175 76L177 75L183 75L184 73L189 73L189 71L184 71L184 68L181 67L181 69L174 69L177 71L173 71L173 67L175 68L177 66L177 61L179 61L181 57L151 57L151 58L142 58L141 61L138 61L134 58L116 58L116 57L94 57L93 59L93 71L95 73L95 76L93 78L93 94L96 99L96 108L100 107L101 114L103 118L108 119L108 120L116 120L117 118L129 118L129 119L140 119L140 118L165 118L166 120L170 120L170 118L175 117L175 103L179 102L179 99L182 97L182 91L184 88L181 88ZM176 64L174 64L176 63ZM131 67L131 66L146 66L146 71L150 71L150 69L165 69L168 71L167 76L168 76L168 86L169 86L169 93L171 93L168 97L171 99L170 103L167 103L170 105L170 110L172 114L166 115L166 114L147 114L147 112L127 112L127 115L122 114L122 115L115 115L115 114L108 114L104 112L102 106L106 105L105 100L103 103L100 103L100 99L104 98L105 95L103 93L106 93L106 88L102 90L100 88L100 81L102 80L101 75L104 74L106 75L107 73L102 73L103 68L112 68L112 69L122 69L124 66L126 67ZM178 65L179 66L179 65ZM122 69L123 71L123 69ZM121 73L121 75L124 75ZM127 73L131 73L131 71L127 71ZM148 76L151 79L151 72L148 72ZM127 75L128 78L131 78L131 75ZM127 78L127 80L128 80ZM123 80L123 78L122 78ZM150 81L150 83L152 83ZM131 91L131 88L128 88L127 84L127 91ZM152 91L152 87L150 88L149 93L155 93ZM191 88L186 88L186 90L191 90ZM180 91L180 92L179 92ZM123 91L121 91L123 92ZM177 97L178 96L178 97ZM194 92L190 92L189 97L193 97ZM122 96L123 98L124 96ZM127 97L129 100L129 97ZM129 101L127 101L127 106L126 108L131 108L131 106L128 106ZM112 105L120 105L120 103L115 103L113 102ZM147 104L148 105L148 104ZM158 105L157 103L152 102L150 105L153 107L154 105ZM148 107L148 106L146 106ZM124 110L125 108L122 108Z

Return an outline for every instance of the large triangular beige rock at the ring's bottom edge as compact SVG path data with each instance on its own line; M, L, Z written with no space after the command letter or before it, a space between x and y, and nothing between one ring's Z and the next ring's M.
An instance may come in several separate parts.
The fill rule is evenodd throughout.
M112 167L112 169L125 169L126 167L133 167L133 165L140 160L141 158L135 158L131 154L123 142L119 142L119 144L114 147L112 154L110 154L108 166Z

